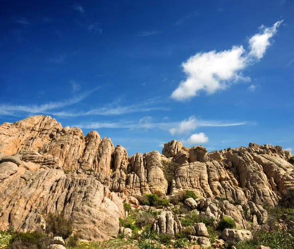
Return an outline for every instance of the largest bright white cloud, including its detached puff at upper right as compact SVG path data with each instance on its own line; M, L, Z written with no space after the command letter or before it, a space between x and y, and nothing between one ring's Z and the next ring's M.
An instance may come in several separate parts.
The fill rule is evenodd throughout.
M199 52L191 56L182 63L187 78L172 92L171 97L184 101L198 95L199 91L212 94L234 82L250 81L249 77L242 75L242 71L263 57L270 45L270 38L277 32L281 22L270 28L262 26L261 33L249 39L249 53L240 45L232 46L229 50Z

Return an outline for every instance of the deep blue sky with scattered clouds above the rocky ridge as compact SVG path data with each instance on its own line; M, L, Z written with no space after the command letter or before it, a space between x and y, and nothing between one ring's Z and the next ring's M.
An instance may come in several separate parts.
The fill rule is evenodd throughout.
M294 1L1 1L0 123L43 113L129 155L294 149Z

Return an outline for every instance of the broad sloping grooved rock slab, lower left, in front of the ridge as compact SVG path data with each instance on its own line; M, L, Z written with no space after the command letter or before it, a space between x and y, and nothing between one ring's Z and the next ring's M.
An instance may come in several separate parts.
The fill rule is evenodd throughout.
M52 212L73 219L73 227L85 239L105 240L118 234L122 200L94 176L65 175L50 168L25 170L13 162L1 163L1 169L3 164L13 171L6 170L8 177L0 179L0 229L44 228L46 213Z

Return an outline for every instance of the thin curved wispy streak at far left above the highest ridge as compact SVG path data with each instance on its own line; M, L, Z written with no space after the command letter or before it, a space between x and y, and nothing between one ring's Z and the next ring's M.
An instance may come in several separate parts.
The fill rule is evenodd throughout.
M16 115L20 112L25 113L46 113L50 110L63 108L66 106L70 106L73 104L76 104L83 99L85 99L87 96L89 96L93 91L98 90L98 88L92 90L92 91L85 91L81 94L75 95L73 98L66 99L63 101L58 102L49 102L42 105L7 105L7 104L0 104L0 110L2 110L2 113L5 115Z

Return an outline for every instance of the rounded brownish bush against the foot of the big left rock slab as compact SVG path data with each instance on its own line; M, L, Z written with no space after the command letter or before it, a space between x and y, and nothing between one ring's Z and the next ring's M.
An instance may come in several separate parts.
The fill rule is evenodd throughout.
M67 239L73 233L73 221L66 219L63 214L49 213L46 219L46 233Z

